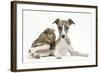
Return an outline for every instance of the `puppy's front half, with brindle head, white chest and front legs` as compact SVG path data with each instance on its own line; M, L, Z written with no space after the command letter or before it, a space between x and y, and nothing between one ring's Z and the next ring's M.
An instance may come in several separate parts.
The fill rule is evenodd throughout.
M59 31L59 38L56 41L56 46L54 50L54 56L58 59L62 58L64 55L66 55L67 52L70 53L72 56L84 56L87 57L88 55L86 53L81 53L78 51L75 51L71 45L70 39L67 35L68 30L72 24L75 24L72 19L68 20L60 20L56 19L53 24L57 25L58 31Z

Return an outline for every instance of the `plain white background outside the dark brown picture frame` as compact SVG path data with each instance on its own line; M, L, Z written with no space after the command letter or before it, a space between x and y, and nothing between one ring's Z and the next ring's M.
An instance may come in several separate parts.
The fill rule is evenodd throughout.
M98 1L96 0L44 0L44 1L71 3L71 4L99 5ZM99 37L100 37L100 34L99 34ZM100 61L100 58L99 58L99 61ZM48 70L48 71L41 71L41 72L43 73L52 73L52 72L53 73L54 72L58 72L58 73L61 73L61 72L63 73L66 73L66 72L67 73L85 73L85 72L94 73L96 72L96 73L99 73L100 67L80 68L80 69L62 69L62 70L50 70L50 71ZM41 73L41 72L36 71L34 73ZM10 0L0 0L0 73L11 73L10 72ZM33 73L33 72L26 72L26 73Z

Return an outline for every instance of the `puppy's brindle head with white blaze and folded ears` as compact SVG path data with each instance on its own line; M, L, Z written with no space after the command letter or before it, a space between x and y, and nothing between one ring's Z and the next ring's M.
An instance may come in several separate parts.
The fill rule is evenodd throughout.
M57 27L58 27L58 31L59 31L59 34L62 38L65 38L66 37L66 34L68 33L68 29L70 28L70 26L72 24L75 24L73 22L72 19L68 19L68 20L61 20L61 19L56 19L53 24L56 24Z

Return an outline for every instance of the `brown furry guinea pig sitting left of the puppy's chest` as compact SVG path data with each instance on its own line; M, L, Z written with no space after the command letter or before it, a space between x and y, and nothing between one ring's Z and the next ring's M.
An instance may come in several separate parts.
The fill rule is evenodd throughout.
M55 30L52 29L52 28L45 29L39 35L39 37L33 42L31 47L40 46L40 45L43 45L45 43L50 44L50 45L54 45L55 44L55 39L56 39L56 35L55 35L54 31Z

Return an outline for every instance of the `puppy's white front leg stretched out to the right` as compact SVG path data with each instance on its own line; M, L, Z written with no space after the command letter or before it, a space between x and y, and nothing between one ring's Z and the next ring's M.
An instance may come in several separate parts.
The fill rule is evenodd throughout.
M78 52L78 51L74 51L73 47L70 45L69 49L68 49L69 53L72 56L83 56L83 57L88 57L88 54L86 53L82 53L82 52Z

